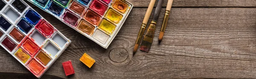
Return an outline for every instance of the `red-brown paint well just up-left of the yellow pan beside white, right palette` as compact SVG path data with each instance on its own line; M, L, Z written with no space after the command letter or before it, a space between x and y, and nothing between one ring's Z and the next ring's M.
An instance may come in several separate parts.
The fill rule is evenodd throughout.
M89 9L87 10L86 14L84 14L84 19L93 25L97 25L101 20L101 16Z

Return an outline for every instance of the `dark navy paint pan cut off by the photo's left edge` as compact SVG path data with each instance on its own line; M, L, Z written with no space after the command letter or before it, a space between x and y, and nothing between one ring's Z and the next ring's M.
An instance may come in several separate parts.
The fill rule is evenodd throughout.
M11 26L12 24L9 23L3 16L0 17L0 26L3 28L3 30L7 31L7 29Z

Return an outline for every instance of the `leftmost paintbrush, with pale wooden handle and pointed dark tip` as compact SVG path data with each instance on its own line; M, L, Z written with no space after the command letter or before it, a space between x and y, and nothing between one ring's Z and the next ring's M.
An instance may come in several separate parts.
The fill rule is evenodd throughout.
M151 0L150 3L149 3L148 9L147 9L145 17L143 19L143 23L141 24L140 31L139 31L139 34L138 34L138 37L137 37L137 40L136 40L136 43L135 43L133 55L136 53L136 51L137 51L137 49L139 47L140 40L143 37L146 25L148 23L148 19L149 19L150 15L151 15L151 12L152 12L152 9L154 7L154 3L155 2L156 2L156 0Z

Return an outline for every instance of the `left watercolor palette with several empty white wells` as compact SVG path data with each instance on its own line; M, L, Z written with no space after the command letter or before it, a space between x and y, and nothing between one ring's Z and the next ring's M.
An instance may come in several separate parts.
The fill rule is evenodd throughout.
M40 78L71 41L23 0L0 0L0 45Z

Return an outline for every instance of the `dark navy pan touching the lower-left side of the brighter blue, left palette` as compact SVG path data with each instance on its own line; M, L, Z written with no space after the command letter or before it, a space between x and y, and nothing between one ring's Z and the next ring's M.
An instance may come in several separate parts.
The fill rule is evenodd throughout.
M33 28L29 23L26 22L25 19L21 19L20 22L17 24L17 26L26 34Z

